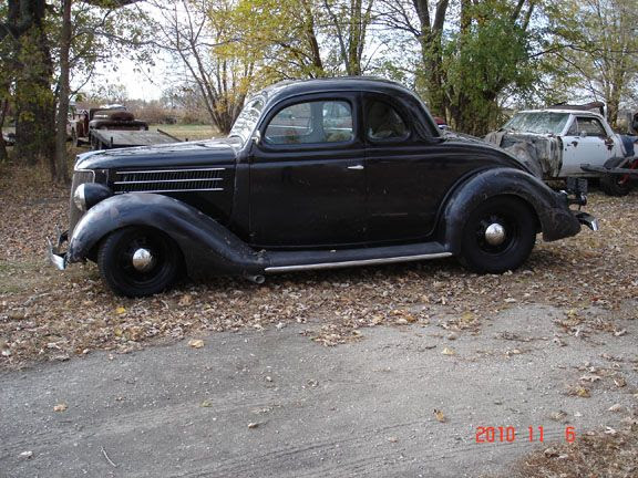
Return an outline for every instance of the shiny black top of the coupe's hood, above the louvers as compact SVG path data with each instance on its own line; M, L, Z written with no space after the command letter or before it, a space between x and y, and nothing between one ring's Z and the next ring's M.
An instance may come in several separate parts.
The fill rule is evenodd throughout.
M79 155L75 169L229 165L240 148L238 138L215 138L96 150Z

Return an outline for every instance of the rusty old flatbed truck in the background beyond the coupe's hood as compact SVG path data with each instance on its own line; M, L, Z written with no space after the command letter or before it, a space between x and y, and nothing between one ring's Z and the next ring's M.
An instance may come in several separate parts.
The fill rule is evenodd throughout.
M133 113L122 105L73 110L69 115L66 133L74 146L90 144L93 149L147 146L179 141L161 131L148 131L148 123L136 119Z

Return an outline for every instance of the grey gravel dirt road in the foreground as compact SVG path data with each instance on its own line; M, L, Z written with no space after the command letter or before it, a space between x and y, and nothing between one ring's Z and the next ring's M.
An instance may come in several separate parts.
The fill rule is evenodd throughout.
M637 406L638 320L585 337L562 334L563 315L526 305L476 335L373 328L337 347L300 334L319 324L272 326L2 372L0 477L503 472ZM514 441L477 444L486 426Z

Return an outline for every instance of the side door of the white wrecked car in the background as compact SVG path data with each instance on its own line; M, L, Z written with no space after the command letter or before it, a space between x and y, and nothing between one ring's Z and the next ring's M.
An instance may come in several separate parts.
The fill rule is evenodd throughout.
M614 139L603 123L594 116L577 115L563 136L563 166L559 176L584 175L582 164L603 166L615 154Z

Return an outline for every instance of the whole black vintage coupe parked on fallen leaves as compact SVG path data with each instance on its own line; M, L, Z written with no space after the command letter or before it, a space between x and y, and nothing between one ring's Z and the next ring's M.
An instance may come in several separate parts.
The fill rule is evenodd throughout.
M96 261L113 292L132 297L184 272L260 283L456 256L500 273L527 259L538 232L596 228L569 209L583 194L555 193L507 153L442 132L411 91L371 79L270 86L227 138L82 154L71 196L50 259Z

